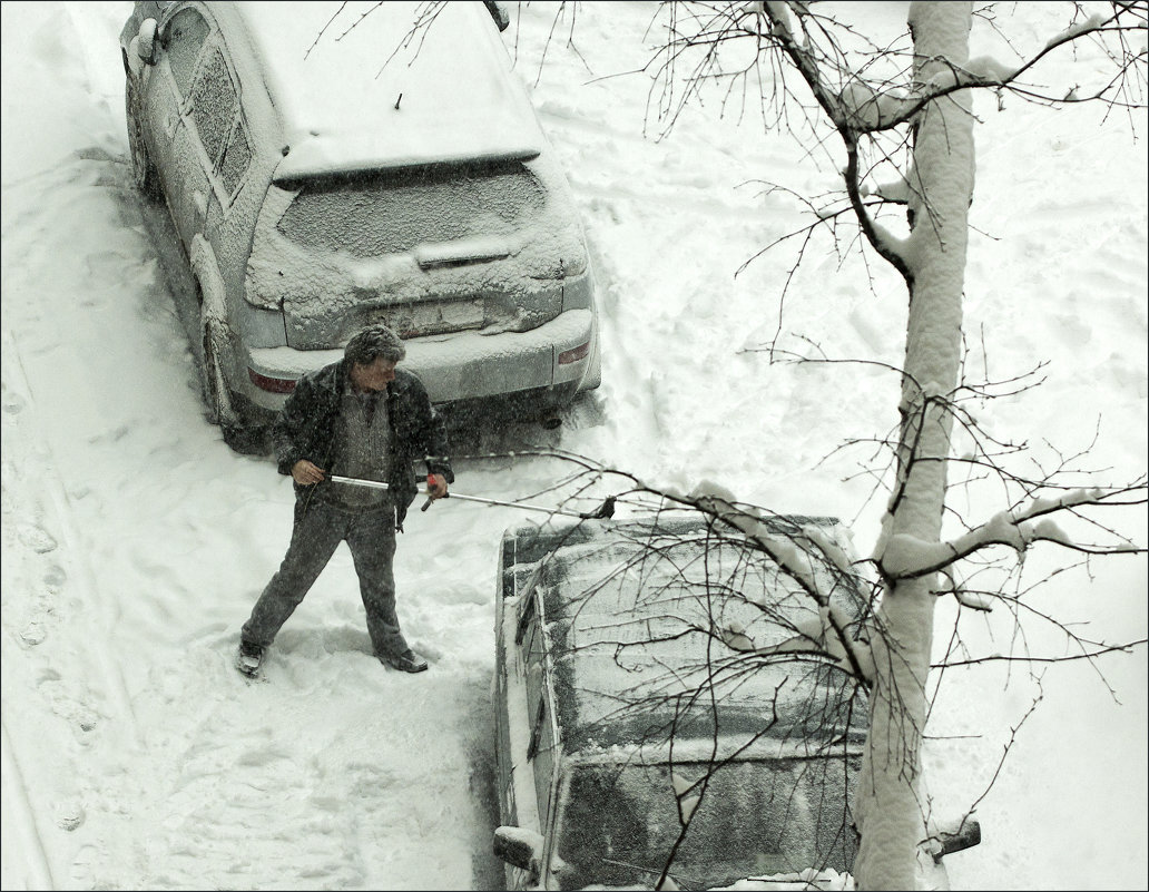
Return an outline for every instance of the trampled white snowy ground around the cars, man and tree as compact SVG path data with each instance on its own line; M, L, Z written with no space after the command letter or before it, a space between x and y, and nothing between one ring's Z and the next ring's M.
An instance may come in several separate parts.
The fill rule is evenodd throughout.
M292 491L203 420L130 185L116 45L129 3L0 9L3 887L498 887L495 548L527 517L461 501L414 513L400 614L427 674L371 659L340 552L277 639L265 683L245 683L238 630L286 546ZM650 5L584 3L579 52L553 45L540 74L553 11L525 7L504 39L597 253L603 385L561 431L486 431L480 449L557 445L666 485L720 480L778 510L836 514L866 552L880 499L867 501L861 456L822 460L896 423L896 378L740 352L773 337L789 257L734 272L799 224L746 184L823 192L832 166L712 106L668 139L643 136L647 83L599 78L645 61ZM987 405L982 421L1069 453L1096 433L1088 464L1129 479L1147 453L1146 116L1134 141L1127 117L1085 107L978 113L971 366L1003 379L1050 363L1040 390ZM832 356L896 362L903 292L881 270L873 292L864 283L856 257L811 257L784 331ZM494 498L564 474L525 457L456 468L457 492ZM1121 523L1146 541L1143 509ZM1146 592L1144 560L1128 559L1059 576L1041 605L1134 639ZM1040 633L1030 644L1047 652ZM1116 695L1085 664L1049 669L978 806L985 841L949 860L955 886L1149 885L1144 648L1104 669ZM1016 668L947 679L932 728L946 739L931 748L940 810L986 789L1036 691Z

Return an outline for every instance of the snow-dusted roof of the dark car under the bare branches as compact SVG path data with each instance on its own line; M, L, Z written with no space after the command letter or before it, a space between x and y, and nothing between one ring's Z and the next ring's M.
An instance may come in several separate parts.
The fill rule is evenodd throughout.
M781 536L818 526L849 547L834 518L773 517L768 525ZM707 633L711 620L739 623L763 646L817 617L772 561L761 552L748 558L741 533L708 529L697 515L604 521L541 533L540 548L526 545L540 533L519 529L519 556L542 558L525 587L541 595L534 609L542 610L547 630L565 753L664 751L671 728L676 759L692 758L692 748L708 758L717 738L741 758L777 752L779 744L808 752L810 741L841 733L862 739L864 697L846 672L820 661L768 663ZM864 598L855 580L828 567L816 572L833 576L834 602L861 615ZM699 585L704 579L709 587ZM718 701L692 700L711 677Z

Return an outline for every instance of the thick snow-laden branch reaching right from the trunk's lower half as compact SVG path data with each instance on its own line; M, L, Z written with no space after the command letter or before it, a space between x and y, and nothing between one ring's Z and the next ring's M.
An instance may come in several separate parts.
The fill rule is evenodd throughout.
M1120 494L1144 487L1106 490L1100 487L1070 490L1057 498L1034 499L1024 510L1001 512L964 536L950 541L931 543L909 533L890 536L882 548L879 566L885 575L894 579L911 579L938 572L956 561L992 545L1013 548L1018 555L1034 543L1048 541L1065 548L1090 554L1139 554L1147 549L1132 543L1116 546L1080 545L1065 533L1055 521L1046 515L1070 510L1080 506L1115 503ZM1140 501L1143 501L1143 497ZM1128 502L1119 502L1127 505Z

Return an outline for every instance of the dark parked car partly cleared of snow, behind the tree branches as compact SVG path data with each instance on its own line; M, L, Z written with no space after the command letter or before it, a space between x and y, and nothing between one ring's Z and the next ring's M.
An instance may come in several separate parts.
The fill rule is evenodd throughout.
M833 518L764 523L851 553ZM663 870L666 889L851 882L866 699L832 662L754 653L820 626L777 564L732 528L662 515L512 528L499 567L494 849L508 889L654 889ZM813 572L862 617L855 576L828 561ZM941 855L980 839L976 822L962 830L923 847L921 887L948 887Z

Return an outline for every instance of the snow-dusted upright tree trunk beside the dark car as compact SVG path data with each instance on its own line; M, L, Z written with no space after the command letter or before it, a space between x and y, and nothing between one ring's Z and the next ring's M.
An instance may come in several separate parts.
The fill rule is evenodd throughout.
M913 2L915 83L949 78L969 56L972 6ZM951 78L949 83L953 83ZM912 274L902 383L899 487L886 517L889 537L936 543L941 535L946 461L953 420L946 398L959 374L962 291L967 213L973 194L973 121L969 91L931 102L916 122ZM855 812L862 845L859 889L913 889L917 844L925 838L920 798L926 675L933 643L935 576L887 579L872 638L877 678L871 698L866 759Z

